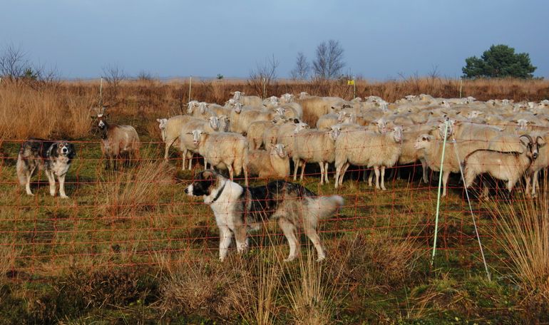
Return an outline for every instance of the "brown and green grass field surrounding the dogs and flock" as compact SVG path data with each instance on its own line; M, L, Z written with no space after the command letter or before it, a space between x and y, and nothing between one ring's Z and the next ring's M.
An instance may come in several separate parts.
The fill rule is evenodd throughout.
M456 81L437 78L358 86L358 96L391 101L411 93L458 96ZM204 81L191 97L222 103L239 89L253 93L245 81ZM269 93L349 98L349 89L343 83L280 82ZM463 88L463 96L483 100L540 100L548 94L546 81L468 81ZM386 192L357 181L359 171L334 191L333 184L318 185L319 170L307 170L309 190L337 192L346 200L336 218L322 223L328 252L322 263L313 262L304 236L301 258L282 262L288 247L275 224L253 234L250 252L238 256L231 249L229 259L218 262L212 212L183 193L193 172L180 171L175 151L170 162L161 159L155 118L180 113L187 100L188 84L176 81L107 87L111 120L134 125L144 143L143 160L110 171L91 128L96 83L0 84L0 324L549 321L546 197L473 202L488 280L457 180L441 204L431 266L438 179L433 175L430 185L421 184L410 167L406 180L387 182ZM16 155L29 136L75 141L70 199L50 197L43 175L34 177L35 197L16 184Z

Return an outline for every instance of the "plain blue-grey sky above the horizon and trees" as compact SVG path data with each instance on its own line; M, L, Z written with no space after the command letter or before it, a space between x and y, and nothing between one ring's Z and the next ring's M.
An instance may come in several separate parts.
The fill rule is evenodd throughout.
M547 0L2 0L0 49L19 46L63 78L246 78L270 56L289 76L298 51L344 48L345 73L384 80L437 69L458 78L468 56L503 43L549 77Z

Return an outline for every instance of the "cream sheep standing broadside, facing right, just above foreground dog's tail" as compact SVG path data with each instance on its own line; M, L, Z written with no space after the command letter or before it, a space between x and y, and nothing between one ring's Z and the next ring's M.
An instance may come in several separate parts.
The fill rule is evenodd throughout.
M386 190L385 167L393 167L401 153L402 128L396 126L387 133L376 133L364 129L342 132L335 144L335 165L337 188L349 165L374 167L376 188L379 189L379 169L381 167L381 190Z

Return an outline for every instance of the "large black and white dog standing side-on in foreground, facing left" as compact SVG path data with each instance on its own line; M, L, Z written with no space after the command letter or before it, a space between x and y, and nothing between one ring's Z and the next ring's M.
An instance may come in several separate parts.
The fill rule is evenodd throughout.
M213 210L220 231L219 258L227 251L235 235L239 253L247 249L247 230L258 229L262 222L276 219L288 239L289 256L295 259L299 250L297 228L304 230L317 249L318 259L326 257L317 234L319 220L332 217L344 204L343 197L317 197L302 185L275 180L265 186L242 187L214 170L204 170L185 189L190 196L204 197Z

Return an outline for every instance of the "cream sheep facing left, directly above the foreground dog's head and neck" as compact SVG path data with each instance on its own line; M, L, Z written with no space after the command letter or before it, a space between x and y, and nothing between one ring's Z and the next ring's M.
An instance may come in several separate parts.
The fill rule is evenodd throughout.
M193 130L193 145L212 167L229 170L230 180L234 180L244 170L245 185L248 185L247 156L248 141L244 136L232 132L212 132Z

